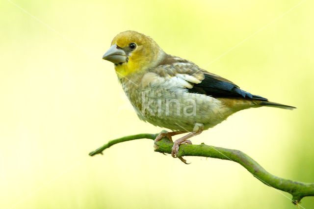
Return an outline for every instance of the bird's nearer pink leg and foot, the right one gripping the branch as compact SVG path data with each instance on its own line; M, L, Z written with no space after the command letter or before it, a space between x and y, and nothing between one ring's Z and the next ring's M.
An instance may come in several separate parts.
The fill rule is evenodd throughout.
M200 124L200 123L196 123L194 125L193 131L188 133L187 135L181 137L180 139L177 139L172 146L172 150L171 150L171 156L172 157L178 157L178 153L179 153L179 145L181 144L192 144L192 142L190 140L188 140L189 138L191 138L192 136L196 136L198 134L200 134L202 131L204 130L204 125ZM178 157L181 161L183 161L185 164L189 164L186 162L185 159L183 159L183 157Z

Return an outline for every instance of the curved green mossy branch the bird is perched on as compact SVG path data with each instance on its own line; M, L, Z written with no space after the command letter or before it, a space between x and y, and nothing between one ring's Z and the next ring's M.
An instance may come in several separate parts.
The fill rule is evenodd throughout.
M104 144L97 150L90 152L90 156L94 156L96 154L103 154L103 151L114 144L130 141L134 139L155 139L157 134L150 133L141 133L137 135L125 136L122 138L114 139ZM163 138L154 144L155 152L159 153L169 153L171 154L173 142L168 138ZM254 177L260 180L262 183L267 186L271 186L273 188L288 192L292 195L292 203L298 204L301 199L306 196L314 196L314 183L302 183L295 182L288 179L283 179L277 176L274 176L268 173L259 163L257 163L254 159L246 155L245 153L239 150L231 150L221 147L214 147L205 145L204 143L200 145L189 145L183 144L180 145L179 156L199 156L199 157L212 157L218 159L226 159L239 163L246 170L248 170Z

